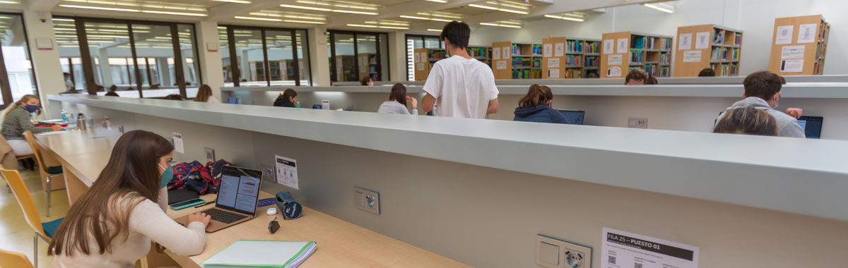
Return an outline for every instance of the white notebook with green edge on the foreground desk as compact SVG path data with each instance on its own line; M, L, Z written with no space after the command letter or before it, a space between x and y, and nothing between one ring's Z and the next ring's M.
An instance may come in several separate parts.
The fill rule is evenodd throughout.
M315 241L238 240L204 260L205 268L294 268L315 252Z

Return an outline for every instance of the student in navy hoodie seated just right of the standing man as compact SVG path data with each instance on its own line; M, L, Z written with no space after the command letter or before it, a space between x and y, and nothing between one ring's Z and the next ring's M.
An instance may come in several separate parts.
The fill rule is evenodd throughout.
M551 108L554 93L544 85L533 84L527 95L518 101L516 117L512 120L538 123L568 123L560 111Z

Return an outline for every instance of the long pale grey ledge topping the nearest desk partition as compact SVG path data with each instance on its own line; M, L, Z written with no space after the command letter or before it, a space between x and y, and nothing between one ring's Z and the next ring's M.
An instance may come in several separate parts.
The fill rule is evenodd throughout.
M846 141L103 96L48 98L848 221Z

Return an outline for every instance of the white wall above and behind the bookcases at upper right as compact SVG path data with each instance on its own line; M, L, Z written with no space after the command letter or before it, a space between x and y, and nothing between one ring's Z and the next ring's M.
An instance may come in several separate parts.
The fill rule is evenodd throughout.
M494 41L532 41L541 43L550 36L600 39L604 33L638 31L675 36L680 26L716 24L744 31L740 74L768 68L774 19L823 14L832 25L824 74L846 74L848 41L840 34L848 29L845 0L681 0L671 3L674 14L642 6L607 8L605 14L591 15L584 22L561 19L529 21L522 29L477 25L471 30L471 45L491 46Z

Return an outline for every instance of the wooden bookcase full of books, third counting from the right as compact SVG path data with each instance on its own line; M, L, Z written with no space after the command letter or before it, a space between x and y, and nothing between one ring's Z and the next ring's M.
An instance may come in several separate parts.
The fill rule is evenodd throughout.
M632 69L656 77L671 76L672 36L624 31L604 34L602 39L601 77L625 77Z

